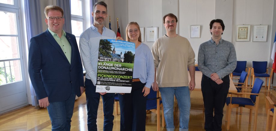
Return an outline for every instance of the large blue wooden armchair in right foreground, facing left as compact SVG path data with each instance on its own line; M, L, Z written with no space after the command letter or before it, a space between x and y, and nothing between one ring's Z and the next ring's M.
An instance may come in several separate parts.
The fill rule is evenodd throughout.
M255 110L255 116L254 116L254 125L253 125L253 131L256 131L256 122L257 122L257 115L258 115L258 105L259 105L259 92L261 90L263 84L263 80L256 78L255 84L253 85L253 89L251 90L251 93L232 93L232 94L248 94L250 95L250 98L241 98L241 97L232 97L232 94L230 94L230 97L226 98L226 120L227 120L227 126L226 130L229 130L230 127L230 116L231 116L231 110L232 108L236 107L245 107L250 109L250 115L249 115L249 123L251 123L252 119L252 110ZM251 87L242 87L241 88L251 88Z

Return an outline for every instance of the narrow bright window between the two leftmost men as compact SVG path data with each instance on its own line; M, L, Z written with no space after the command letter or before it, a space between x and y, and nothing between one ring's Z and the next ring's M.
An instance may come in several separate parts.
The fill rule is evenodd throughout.
M83 0L71 0L71 23L72 33L76 36L79 45L79 36L83 32Z

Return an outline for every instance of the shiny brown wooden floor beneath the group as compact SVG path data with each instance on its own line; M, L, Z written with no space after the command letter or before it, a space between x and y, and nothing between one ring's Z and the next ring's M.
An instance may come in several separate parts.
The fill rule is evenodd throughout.
M266 113L265 113L265 96L269 95L272 100L276 102L276 91L267 92L263 87L261 89L260 104L258 110L258 121L257 121L257 131L264 131L266 125ZM203 131L204 130L204 112L202 111L203 99L201 92L193 91L191 93L191 111L190 111L190 131ZM177 102L175 103L175 113L174 121L176 131L179 130L179 110L177 108ZM226 130L225 122L225 110L222 129ZM71 122L72 131L85 131L87 130L87 110L86 110L86 100L85 93L75 102L74 113ZM113 131L120 130L120 115L115 114L115 104L114 104L114 126ZM254 113L253 113L254 116ZM157 115L155 113L148 113L146 117L146 130L155 131L157 130ZM162 121L162 120L161 120ZM236 113L236 109L232 110L230 131L251 131L253 130L253 123L249 124L249 109L244 108L242 115ZM253 119L252 119L253 122ZM162 122L161 122L162 123ZM98 130L103 130L103 116L102 116L102 104L100 103L98 109L98 119L97 119ZM270 123L271 125L271 123ZM166 131L160 125L161 131ZM51 121L45 108L39 108L34 106L27 106L22 109L9 112L7 114L0 116L0 131L4 130L28 130L28 131L50 131Z

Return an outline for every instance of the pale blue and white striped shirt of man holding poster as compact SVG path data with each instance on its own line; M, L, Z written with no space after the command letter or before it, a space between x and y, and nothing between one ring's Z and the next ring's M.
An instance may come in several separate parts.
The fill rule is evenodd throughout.
M79 38L79 50L82 64L86 71L85 78L91 79L94 86L97 82L97 65L100 39L116 39L114 31L103 27L103 33L98 32L93 24L86 29Z

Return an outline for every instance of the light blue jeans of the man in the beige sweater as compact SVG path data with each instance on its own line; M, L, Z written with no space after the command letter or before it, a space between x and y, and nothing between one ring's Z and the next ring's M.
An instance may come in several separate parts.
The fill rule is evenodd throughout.
M176 96L179 107L179 131L189 129L190 118L190 90L188 86L182 87L160 87L159 88L164 106L164 117L166 121L167 131L174 130L173 124L173 106L174 95Z

